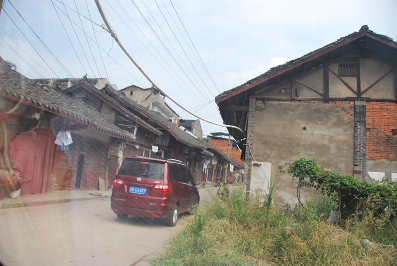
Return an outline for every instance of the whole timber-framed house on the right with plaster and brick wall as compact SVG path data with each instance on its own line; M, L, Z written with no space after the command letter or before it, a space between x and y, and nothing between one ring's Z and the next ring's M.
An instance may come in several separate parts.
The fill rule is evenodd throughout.
M247 190L272 177L277 200L296 203L285 170L298 156L369 182L396 175L396 69L397 43L364 25L218 95L224 123L246 133L229 129L245 149Z

